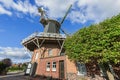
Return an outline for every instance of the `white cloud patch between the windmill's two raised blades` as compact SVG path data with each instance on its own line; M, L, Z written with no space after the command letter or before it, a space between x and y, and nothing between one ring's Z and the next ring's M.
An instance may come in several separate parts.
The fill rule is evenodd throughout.
M47 14L52 18L62 18L70 4L76 0L35 0L38 6L42 6L47 10Z

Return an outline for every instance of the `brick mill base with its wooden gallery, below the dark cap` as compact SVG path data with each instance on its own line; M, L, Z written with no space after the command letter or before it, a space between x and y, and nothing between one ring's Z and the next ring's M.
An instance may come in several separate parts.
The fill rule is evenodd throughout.
M37 63L35 75L66 78L68 73L76 73L76 65L68 60L62 49L64 40L63 34L38 33L24 42L25 47L33 51L31 63Z

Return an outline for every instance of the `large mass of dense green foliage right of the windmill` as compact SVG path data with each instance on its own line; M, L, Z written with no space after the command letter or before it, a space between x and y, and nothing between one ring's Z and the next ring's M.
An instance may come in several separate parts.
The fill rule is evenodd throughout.
M75 61L120 62L120 14L80 29L66 39L64 47Z

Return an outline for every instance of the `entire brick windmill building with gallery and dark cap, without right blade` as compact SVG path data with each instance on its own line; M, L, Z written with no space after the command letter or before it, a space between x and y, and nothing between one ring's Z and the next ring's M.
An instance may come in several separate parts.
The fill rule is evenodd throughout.
M30 75L71 80L77 78L77 75L86 75L84 64L76 65L65 55L63 45L66 35L60 33L61 24L56 20L45 18L41 9L39 12L44 32L33 33L22 40L22 45L33 52L32 65L28 66Z

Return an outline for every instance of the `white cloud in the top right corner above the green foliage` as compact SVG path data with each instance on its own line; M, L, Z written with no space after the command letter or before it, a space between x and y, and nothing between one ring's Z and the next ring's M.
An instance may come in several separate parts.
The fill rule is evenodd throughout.
M86 21L100 22L120 13L120 0L79 0L77 5Z

